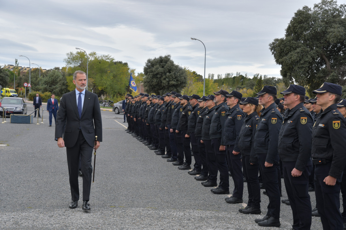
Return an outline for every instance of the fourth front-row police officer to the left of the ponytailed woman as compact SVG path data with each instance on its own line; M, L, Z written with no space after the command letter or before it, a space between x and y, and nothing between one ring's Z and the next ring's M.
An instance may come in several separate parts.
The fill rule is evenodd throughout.
M201 142L202 140L202 127L203 127L203 120L206 116L206 112L208 110L207 107L207 96L203 96L200 99L198 99L198 107L200 111L198 112L198 118L196 121L196 128L195 128L195 137L197 139L197 146L198 146L198 156L200 157L202 169L199 176L194 177L196 180L205 181L208 179L208 165L207 165L207 158L206 158L206 147L204 143ZM195 158L196 159L196 158Z

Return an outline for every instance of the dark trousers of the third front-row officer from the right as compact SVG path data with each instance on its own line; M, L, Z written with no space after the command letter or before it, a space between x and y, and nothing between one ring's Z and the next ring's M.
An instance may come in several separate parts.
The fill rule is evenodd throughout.
M267 192L269 203L266 216L272 216L275 219L280 218L280 190L277 182L277 171L280 172L279 162L275 162L272 167L265 167L267 153L258 153L258 163L262 174L262 180ZM279 170L278 170L279 169Z

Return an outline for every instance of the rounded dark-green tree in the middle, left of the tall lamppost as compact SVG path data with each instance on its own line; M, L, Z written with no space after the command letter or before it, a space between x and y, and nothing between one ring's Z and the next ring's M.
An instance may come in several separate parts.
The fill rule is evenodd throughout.
M165 92L181 92L186 86L185 70L174 64L171 55L148 59L144 66L144 87L148 92L164 94Z

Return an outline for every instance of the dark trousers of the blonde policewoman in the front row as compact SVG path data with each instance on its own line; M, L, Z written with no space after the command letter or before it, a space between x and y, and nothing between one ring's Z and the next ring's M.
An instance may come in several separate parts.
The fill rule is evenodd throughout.
M261 189L260 182L258 181L258 171L260 166L258 162L255 164L250 163L250 156L242 156L243 172L247 180L247 192L249 200L247 206L253 208L261 208Z

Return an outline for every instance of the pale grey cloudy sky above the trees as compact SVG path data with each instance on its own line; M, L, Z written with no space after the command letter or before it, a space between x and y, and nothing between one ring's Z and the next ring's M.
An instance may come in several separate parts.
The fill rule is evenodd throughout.
M203 75L240 72L280 77L268 48L298 9L319 0L0 0L0 65L63 67L75 47L109 54L143 72L170 54ZM344 3L338 1L338 3ZM31 65L36 67L36 65Z

